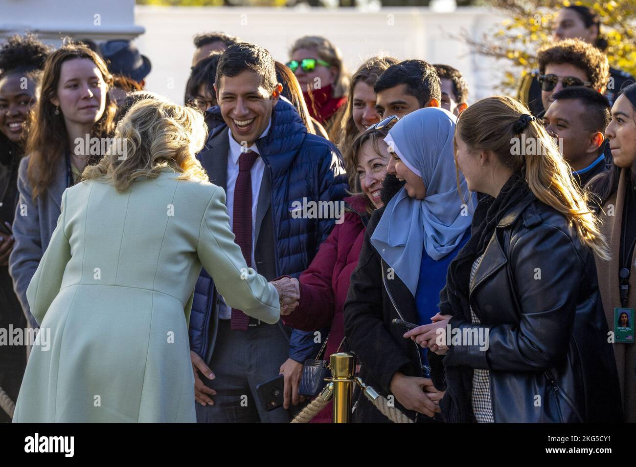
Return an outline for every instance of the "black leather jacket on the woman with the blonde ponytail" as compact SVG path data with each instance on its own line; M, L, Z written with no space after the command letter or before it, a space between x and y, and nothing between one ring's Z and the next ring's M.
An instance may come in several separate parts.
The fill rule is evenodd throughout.
M444 357L431 355L436 387L443 387L443 367L488 369L495 422L622 421L593 254L562 214L537 200L511 208L483 254L469 301L481 324L453 316L450 325L485 328L488 349L451 346Z

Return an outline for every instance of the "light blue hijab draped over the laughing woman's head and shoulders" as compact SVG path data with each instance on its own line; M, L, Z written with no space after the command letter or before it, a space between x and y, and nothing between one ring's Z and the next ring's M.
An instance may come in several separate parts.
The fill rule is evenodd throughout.
M403 187L387 204L371 244L415 297L422 250L434 260L455 250L473 220L457 190L453 137L457 118L439 107L404 116L384 139L426 187L424 200ZM468 192L460 174L462 193ZM473 198L474 194L471 194ZM464 214L464 215L462 215Z

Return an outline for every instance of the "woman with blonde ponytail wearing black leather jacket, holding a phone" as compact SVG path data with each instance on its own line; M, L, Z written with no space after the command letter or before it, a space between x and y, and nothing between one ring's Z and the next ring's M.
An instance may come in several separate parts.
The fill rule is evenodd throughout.
M490 97L460 115L455 162L481 193L471 239L440 313L404 335L436 354L442 416L622 421L594 262L607 244L554 140L527 107Z

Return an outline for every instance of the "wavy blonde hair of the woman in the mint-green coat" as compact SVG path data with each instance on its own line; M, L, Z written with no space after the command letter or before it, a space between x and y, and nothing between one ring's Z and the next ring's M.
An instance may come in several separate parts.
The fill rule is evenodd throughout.
M106 179L122 193L136 179L155 179L170 168L181 173L179 180L207 181L195 157L206 137L207 126L196 109L163 98L139 100L118 123L106 155L97 165L86 166L81 180Z

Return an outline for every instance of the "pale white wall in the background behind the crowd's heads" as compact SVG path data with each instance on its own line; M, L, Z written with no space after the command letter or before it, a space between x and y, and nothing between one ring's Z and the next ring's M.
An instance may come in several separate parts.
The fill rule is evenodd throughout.
M466 30L481 37L501 22L485 8L439 13L429 8L214 8L135 6L134 0L0 0L0 38L31 30L56 45L60 37L104 41L137 37L150 58L146 88L182 103L194 52L193 36L220 30L258 43L280 62L300 36L328 37L342 50L350 72L384 52L399 59L421 58L459 69L470 88L469 102L492 95L502 65L472 54L452 39ZM145 32L144 32L145 31Z

